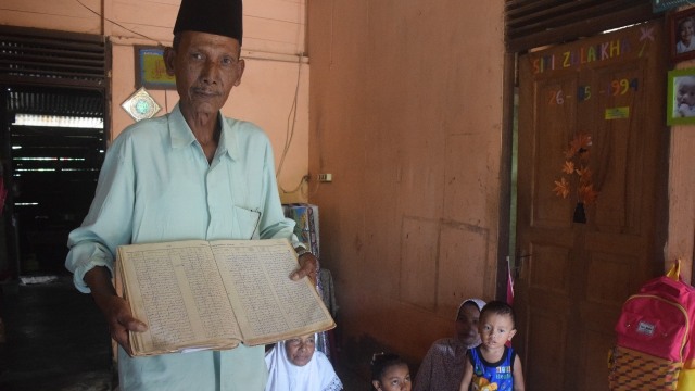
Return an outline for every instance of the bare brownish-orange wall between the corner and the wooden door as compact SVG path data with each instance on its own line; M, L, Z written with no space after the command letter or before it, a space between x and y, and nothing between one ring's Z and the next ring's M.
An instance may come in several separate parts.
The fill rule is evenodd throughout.
M503 2L313 1L309 172L356 363L417 362L495 294Z

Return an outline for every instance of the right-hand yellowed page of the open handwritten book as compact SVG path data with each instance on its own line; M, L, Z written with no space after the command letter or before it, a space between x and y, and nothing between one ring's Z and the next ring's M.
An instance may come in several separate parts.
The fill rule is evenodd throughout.
M211 245L244 343L271 343L336 326L308 278L290 279L299 263L287 240L224 240Z

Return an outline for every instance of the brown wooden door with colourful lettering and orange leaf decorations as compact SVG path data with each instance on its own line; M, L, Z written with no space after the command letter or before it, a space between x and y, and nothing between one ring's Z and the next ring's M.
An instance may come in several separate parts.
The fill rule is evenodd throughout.
M608 389L620 307L661 272L665 55L653 22L519 59L515 345L528 390Z

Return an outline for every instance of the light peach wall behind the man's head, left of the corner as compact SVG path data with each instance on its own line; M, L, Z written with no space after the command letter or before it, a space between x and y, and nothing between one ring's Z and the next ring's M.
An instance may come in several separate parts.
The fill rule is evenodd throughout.
M112 136L132 123L121 104L139 86L135 81L135 45L170 45L180 0L0 0L0 24L104 35L112 52ZM223 112L258 124L270 136L286 202L306 201L294 190L308 171L308 62L304 56L305 0L244 1L242 56L247 70ZM170 111L176 91L150 90ZM291 142L290 142L291 141ZM286 144L290 144L286 148Z

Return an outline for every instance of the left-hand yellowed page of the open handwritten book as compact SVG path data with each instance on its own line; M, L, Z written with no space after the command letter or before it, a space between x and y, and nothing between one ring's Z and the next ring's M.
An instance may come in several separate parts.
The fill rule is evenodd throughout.
M132 332L136 354L232 348L241 332L206 241L118 249L127 299L146 332Z

